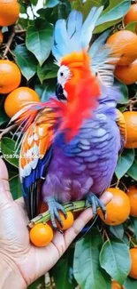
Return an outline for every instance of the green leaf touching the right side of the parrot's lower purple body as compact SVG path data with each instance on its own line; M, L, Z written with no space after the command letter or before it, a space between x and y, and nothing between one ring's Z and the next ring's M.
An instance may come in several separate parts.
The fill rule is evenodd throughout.
M134 160L134 149L124 149L122 155L118 159L118 165L116 167L115 173L120 180L129 168L133 165Z

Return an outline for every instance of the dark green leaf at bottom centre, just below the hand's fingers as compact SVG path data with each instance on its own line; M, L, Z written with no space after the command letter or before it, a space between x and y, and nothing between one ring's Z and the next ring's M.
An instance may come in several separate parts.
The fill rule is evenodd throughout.
M51 271L57 289L75 289L77 283L73 277L72 263L73 249L69 248Z

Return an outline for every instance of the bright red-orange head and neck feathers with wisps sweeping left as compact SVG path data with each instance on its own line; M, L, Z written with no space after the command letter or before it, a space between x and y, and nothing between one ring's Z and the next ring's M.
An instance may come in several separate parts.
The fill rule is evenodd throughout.
M56 119L60 119L59 130L65 132L65 139L70 141L79 132L84 120L95 110L100 87L96 76L91 74L87 52L73 52L64 57L61 64L67 66L72 75L65 84L66 102L52 99L45 103L28 103L11 119L17 124L23 124L23 132L27 131L42 109L53 108Z

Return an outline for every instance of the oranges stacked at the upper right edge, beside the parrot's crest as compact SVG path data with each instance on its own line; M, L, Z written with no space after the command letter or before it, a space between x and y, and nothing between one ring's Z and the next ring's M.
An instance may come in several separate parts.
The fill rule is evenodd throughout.
M137 4L131 5L124 18L124 25L137 21ZM135 27L137 33L137 25ZM109 37L112 53L119 57L115 76L124 84L137 81L137 35L128 29L120 30Z

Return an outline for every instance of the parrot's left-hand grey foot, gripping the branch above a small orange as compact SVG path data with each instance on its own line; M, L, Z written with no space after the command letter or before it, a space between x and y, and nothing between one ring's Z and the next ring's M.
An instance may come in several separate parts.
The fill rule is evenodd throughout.
M62 220L60 218L59 212L63 213L65 215L65 218L67 217L67 214L65 213L65 209L62 205L57 203L54 197L47 197L46 198L46 203L49 206L49 213L51 216L51 223L54 229L57 229L57 222L63 227Z

